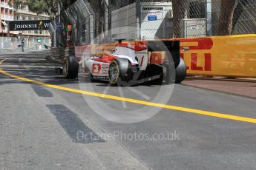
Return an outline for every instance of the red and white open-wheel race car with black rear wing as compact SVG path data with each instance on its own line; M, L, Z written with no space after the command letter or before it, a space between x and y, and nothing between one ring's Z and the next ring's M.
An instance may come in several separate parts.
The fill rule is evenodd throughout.
M77 64L70 64L75 61L90 72L91 81L105 80L120 86L143 82L180 83L186 77L186 64L180 58L179 41L129 42L119 39L115 44L87 46L86 50L83 58L76 56L65 60L65 77L74 78L77 75Z

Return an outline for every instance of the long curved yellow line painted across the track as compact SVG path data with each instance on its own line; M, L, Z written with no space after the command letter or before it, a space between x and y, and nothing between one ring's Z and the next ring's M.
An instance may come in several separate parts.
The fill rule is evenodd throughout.
M0 61L0 65L8 59L10 59L10 58L6 58L3 61ZM246 117L240 117L240 116L235 116L235 115L227 115L227 114L218 113L218 112L209 112L209 111L204 111L204 110L200 110L200 109L190 109L190 108L186 108L186 107L171 106L171 105L165 105L165 104L161 104L161 103L153 103L153 102L149 102L149 101L140 101L140 100L136 100L136 99L132 99L132 98L122 98L122 97L115 96L115 95L104 95L102 93L83 91L83 90L79 90L79 89L71 89L68 87L57 86L57 85L53 85L53 84L45 84L41 81L36 81L36 80L29 79L29 78L23 78L18 75L10 74L9 72L5 72L2 69L0 69L0 73L3 75L7 75L11 78L16 78L20 81L27 81L27 82L30 82L33 84L39 84L41 86L47 86L47 87L53 88L53 89L60 89L60 90L68 91L68 92L79 93L82 95L90 95L90 96L94 96L94 97L98 97L98 98L111 99L114 101L125 101L125 102L129 102L129 103L137 103L137 104L144 105L144 106L154 106L154 107L160 107L163 109L177 110L180 112L189 112L189 113L194 113L197 115L206 115L206 116L211 116L211 117L216 117L216 118L237 120L237 121L242 121L242 122L247 122L247 123L256 123L255 118L246 118Z

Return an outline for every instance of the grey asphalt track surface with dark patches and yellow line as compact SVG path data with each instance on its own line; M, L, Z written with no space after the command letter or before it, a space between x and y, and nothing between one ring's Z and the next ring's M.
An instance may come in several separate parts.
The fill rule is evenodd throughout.
M256 169L255 100L66 80L47 55L0 56L0 170Z

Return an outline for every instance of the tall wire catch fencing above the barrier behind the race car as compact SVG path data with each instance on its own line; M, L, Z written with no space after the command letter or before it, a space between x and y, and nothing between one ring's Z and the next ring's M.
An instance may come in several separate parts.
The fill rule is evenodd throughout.
M62 20L73 44L256 33L255 0L77 0Z

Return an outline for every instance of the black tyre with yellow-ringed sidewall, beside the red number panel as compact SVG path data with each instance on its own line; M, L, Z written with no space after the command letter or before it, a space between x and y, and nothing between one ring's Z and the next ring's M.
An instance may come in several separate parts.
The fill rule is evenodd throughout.
M125 58L115 58L109 66L109 81L112 85L125 86L128 82L129 61Z

